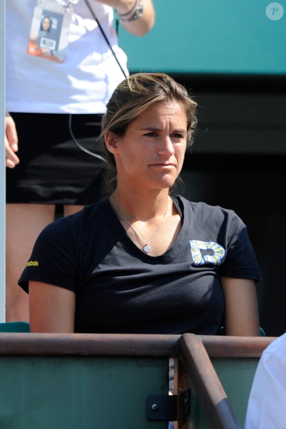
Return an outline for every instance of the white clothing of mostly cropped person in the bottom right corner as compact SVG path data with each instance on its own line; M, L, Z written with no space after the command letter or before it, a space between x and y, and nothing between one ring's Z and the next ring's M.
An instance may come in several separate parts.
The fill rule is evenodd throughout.
M286 428L286 333L259 360L247 409L245 429Z

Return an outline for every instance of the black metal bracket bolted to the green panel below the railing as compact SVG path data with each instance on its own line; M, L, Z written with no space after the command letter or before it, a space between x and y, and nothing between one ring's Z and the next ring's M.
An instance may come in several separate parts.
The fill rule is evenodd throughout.
M190 410L190 391L178 395L149 395L146 398L146 419L174 422L178 420L179 408L182 417Z

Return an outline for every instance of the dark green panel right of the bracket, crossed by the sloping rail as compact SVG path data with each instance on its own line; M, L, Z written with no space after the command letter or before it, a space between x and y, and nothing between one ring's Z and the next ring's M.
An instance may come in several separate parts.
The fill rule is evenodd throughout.
M244 428L248 398L259 359L213 358L212 363L229 403L242 428ZM191 385L189 384L191 389ZM191 389L191 413L188 427L210 429L206 415Z

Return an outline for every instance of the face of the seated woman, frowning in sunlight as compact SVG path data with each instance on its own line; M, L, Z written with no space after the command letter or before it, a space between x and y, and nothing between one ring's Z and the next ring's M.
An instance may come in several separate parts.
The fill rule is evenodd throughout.
M183 105L177 101L154 103L129 125L122 138L114 137L110 151L116 160L118 184L169 188L182 169L186 144Z

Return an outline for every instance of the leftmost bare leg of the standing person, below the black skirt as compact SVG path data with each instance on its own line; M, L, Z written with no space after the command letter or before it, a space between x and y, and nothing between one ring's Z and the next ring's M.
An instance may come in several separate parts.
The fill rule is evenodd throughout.
M6 204L6 322L29 322L29 295L17 282L37 236L54 216L54 205Z

